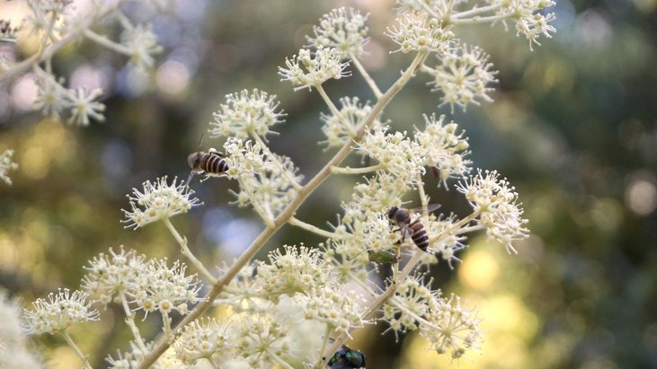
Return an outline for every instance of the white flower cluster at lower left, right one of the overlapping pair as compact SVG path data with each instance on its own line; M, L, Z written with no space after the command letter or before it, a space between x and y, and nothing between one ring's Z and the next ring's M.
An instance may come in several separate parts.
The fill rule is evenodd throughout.
M139 270L128 294L146 314L155 311L165 315L172 311L187 314L187 304L200 301L200 281L196 275L185 276L186 268L177 260L169 268L166 259L151 259Z

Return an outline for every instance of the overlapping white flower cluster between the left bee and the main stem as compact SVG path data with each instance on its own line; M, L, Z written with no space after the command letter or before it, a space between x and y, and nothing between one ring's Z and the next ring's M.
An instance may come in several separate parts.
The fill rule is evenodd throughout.
M303 177L288 157L235 137L228 138L224 149L226 175L240 183L239 192L233 192L238 206L251 204L262 219L271 221L297 196Z

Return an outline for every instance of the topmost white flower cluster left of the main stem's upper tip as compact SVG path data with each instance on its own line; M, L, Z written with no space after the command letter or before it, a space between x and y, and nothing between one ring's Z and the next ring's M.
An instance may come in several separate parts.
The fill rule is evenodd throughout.
M367 19L368 15L352 8L333 9L320 18L318 26L313 26L315 37L307 39L315 48L337 48L345 57L360 57L368 42Z

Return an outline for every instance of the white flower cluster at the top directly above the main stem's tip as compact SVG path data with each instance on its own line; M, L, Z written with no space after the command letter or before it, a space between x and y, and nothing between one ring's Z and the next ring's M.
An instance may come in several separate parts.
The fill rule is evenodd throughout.
M398 25L388 28L390 37L404 54L411 51L435 52L442 54L448 50L454 37L452 31L440 27L436 18L428 19L427 13L404 13L397 18Z

